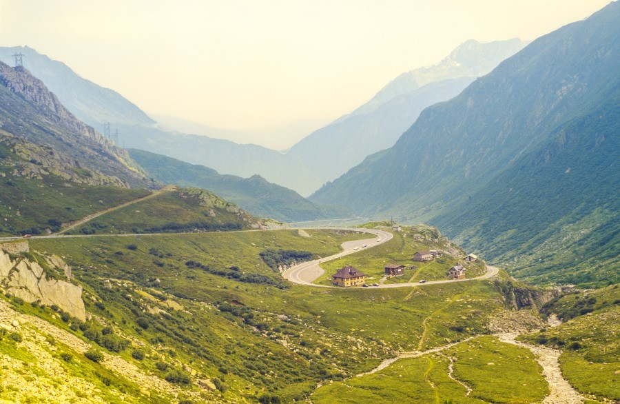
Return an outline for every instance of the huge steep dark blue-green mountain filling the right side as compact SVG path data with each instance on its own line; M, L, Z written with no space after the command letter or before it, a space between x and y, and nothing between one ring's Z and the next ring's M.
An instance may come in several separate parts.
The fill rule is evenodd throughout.
M614 2L530 43L311 200L428 221L509 265L541 254L512 264L528 281L617 282L619 22Z

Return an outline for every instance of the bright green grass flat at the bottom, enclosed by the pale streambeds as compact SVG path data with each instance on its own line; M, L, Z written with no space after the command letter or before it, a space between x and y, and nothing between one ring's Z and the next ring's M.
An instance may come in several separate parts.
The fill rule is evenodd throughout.
M448 376L448 356L457 358ZM493 365L489 365L493 363ZM510 377L498 375L510 374ZM396 361L374 374L320 387L313 403L532 403L548 392L541 368L526 348L482 336L437 354Z

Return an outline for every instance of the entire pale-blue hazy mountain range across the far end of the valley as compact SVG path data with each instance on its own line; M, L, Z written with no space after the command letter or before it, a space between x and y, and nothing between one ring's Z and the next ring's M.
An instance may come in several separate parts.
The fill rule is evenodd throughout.
M205 165L222 174L267 181L308 196L340 176L364 156L389 148L415 121L420 111L455 97L475 77L524 46L519 39L479 43L466 41L444 61L402 74L373 99L302 139L287 153L260 145L239 144L214 137L182 134L159 128L136 105L120 94L79 77L64 63L28 47L0 48L0 60L24 63L42 79L63 104L85 123L103 130L110 124L125 148L147 150L187 163ZM92 102L85 103L84 100ZM221 137L224 137L225 133Z

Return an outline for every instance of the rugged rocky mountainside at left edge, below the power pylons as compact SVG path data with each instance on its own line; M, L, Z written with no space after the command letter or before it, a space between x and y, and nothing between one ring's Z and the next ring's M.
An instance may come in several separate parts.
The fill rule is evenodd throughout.
M19 66L0 62L0 130L30 143L50 147L86 168L116 176L125 186L146 186L129 154L79 121L43 82Z

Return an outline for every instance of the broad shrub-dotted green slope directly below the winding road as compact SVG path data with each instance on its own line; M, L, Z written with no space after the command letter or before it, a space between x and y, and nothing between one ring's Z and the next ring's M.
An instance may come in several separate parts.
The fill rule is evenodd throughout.
M302 399L320 381L370 370L395 350L416 349L425 331L424 346L486 332L488 316L503 307L486 281L424 290L290 285L260 252L307 250L327 256L343 241L360 237L307 233L310 237L297 230L91 236L37 239L31 248L65 256L83 284L87 310L114 322L125 338L143 341L143 361L132 358L130 349L121 352L124 358L164 377L151 356L161 345L157 355L165 362L180 361L207 378L222 379L224 391L215 394L228 401L267 393L283 401ZM216 271L188 267L190 260ZM233 266L270 281L241 282L228 275ZM163 312L151 314L155 309ZM136 322L140 318L146 328Z

